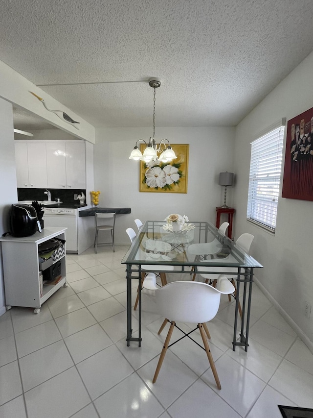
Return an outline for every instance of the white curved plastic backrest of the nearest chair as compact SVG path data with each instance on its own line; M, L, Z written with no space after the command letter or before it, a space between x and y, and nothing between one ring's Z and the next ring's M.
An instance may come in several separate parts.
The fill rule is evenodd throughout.
M223 294L232 293L235 290L233 285L225 276L223 281L228 288ZM221 290L201 282L171 282L156 290L156 306L158 313L169 320L203 323L217 314L221 293Z

